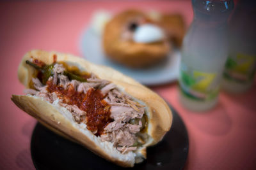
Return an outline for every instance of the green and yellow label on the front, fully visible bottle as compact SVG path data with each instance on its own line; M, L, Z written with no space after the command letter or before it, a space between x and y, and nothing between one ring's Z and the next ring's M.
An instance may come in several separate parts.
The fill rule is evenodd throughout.
M216 73L206 73L181 64L180 90L184 96L208 101L218 96L220 82Z

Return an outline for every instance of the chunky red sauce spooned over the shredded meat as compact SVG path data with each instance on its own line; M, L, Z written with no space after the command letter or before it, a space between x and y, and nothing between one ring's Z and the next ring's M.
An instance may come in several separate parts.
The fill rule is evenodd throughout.
M77 92L72 85L66 90L60 85L54 85L52 81L47 81L47 90L56 92L63 103L76 105L80 110L86 112L85 122L87 129L97 131L96 136L104 132L104 127L113 120L110 118L110 106L104 101L104 96L99 89L89 89L86 94Z

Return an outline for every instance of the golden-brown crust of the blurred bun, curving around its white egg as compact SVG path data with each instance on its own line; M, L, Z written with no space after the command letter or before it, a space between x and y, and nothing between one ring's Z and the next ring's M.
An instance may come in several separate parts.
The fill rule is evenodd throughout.
M102 45L107 57L129 67L147 67L168 55L170 45L167 41L157 43L136 43L124 41L122 32L129 21L143 17L150 20L144 13L128 10L113 17L104 27Z

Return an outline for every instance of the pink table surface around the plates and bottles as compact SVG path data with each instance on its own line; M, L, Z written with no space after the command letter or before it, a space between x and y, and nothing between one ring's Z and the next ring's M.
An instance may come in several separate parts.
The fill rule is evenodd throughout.
M190 1L40 1L0 3L1 115L0 169L35 169L30 155L36 124L12 103L22 94L17 67L24 53L34 48L81 55L79 38L97 9L120 11L138 7L178 11L186 23L193 19ZM220 94L216 108L193 113L180 106L177 83L152 87L179 112L189 135L185 169L255 169L255 83L241 95Z

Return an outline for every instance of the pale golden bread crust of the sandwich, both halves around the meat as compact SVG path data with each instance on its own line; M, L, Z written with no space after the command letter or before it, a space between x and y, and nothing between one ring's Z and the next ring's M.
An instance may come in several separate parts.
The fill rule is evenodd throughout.
M172 112L164 100L155 92L152 92L152 90L114 69L97 66L80 57L74 57L59 52L45 52L42 50L28 52L23 57L19 66L18 77L20 82L29 88L29 82L35 73L35 69L28 66L26 60L30 60L31 57L33 57L33 59L42 60L42 62L45 62L46 64L51 64L54 61L54 55L57 56L57 62L64 61L73 64L79 67L79 69L93 73L101 79L112 81L120 90L123 90L125 93L146 105L148 115L147 133L150 136L150 140L145 144L145 147L156 144L163 138L164 134L169 131L172 125ZM48 125L51 130L55 129L55 132L58 132L58 134L64 134L63 136L66 138L81 143L81 145L86 146L92 150L92 152L97 153L97 155L115 162L120 166L133 166L134 160L118 159L96 145L92 138L88 138L88 136L84 135L79 129L75 128L67 118L61 115L60 110L54 107L51 103L33 96L13 96L12 101L29 115L35 117L43 124ZM145 150L141 149L141 154L146 157Z

